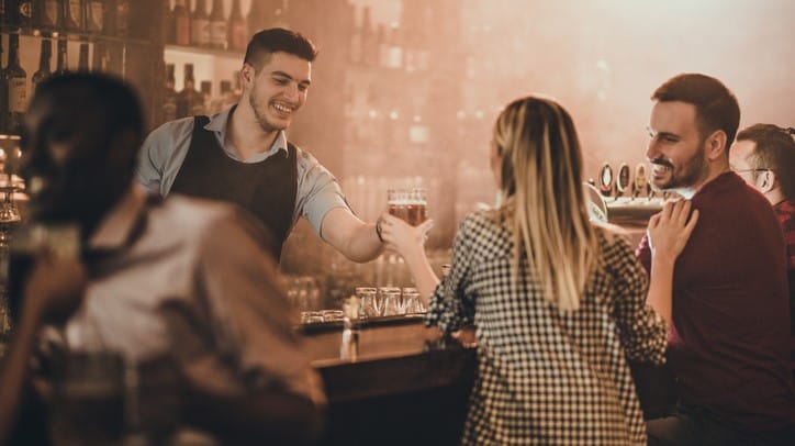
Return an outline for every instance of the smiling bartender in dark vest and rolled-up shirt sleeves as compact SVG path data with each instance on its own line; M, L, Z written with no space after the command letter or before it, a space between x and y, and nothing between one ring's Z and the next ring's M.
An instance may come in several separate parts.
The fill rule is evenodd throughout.
M138 181L164 197L179 192L243 207L270 230L268 249L277 260L299 216L348 259L378 257L377 224L359 220L334 176L284 134L306 101L316 55L300 33L255 34L239 74L239 102L153 131L141 150Z

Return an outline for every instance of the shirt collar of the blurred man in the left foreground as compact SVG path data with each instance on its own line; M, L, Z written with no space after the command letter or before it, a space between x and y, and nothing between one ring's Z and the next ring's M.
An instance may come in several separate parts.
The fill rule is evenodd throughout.
M147 200L147 191L142 186L132 185L127 193L102 219L91 234L87 247L110 252L127 245L144 224L142 219Z

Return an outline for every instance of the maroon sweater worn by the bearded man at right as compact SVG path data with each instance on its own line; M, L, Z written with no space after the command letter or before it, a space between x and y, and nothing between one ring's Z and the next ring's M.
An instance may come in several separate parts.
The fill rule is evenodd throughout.
M694 197L698 223L676 260L669 360L680 401L763 431L795 424L781 226L734 172ZM650 269L648 239L637 250Z

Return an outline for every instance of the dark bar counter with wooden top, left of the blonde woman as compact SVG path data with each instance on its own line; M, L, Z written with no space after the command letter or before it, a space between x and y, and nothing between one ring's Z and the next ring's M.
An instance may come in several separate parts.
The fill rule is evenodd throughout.
M418 319L362 324L358 352L341 324L304 327L304 348L328 397L324 445L459 444L475 370L474 349Z

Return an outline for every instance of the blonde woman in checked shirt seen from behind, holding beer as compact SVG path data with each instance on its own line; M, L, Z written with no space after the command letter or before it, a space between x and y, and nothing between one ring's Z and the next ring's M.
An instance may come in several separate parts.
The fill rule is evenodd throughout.
M649 288L629 245L589 222L580 144L557 102L510 103L494 126L491 167L503 204L463 220L441 283L423 247L430 223L381 216L388 247L429 297L426 323L445 333L477 326L462 443L646 444L627 359L663 361L673 260L697 213L688 219L680 202L650 222Z

